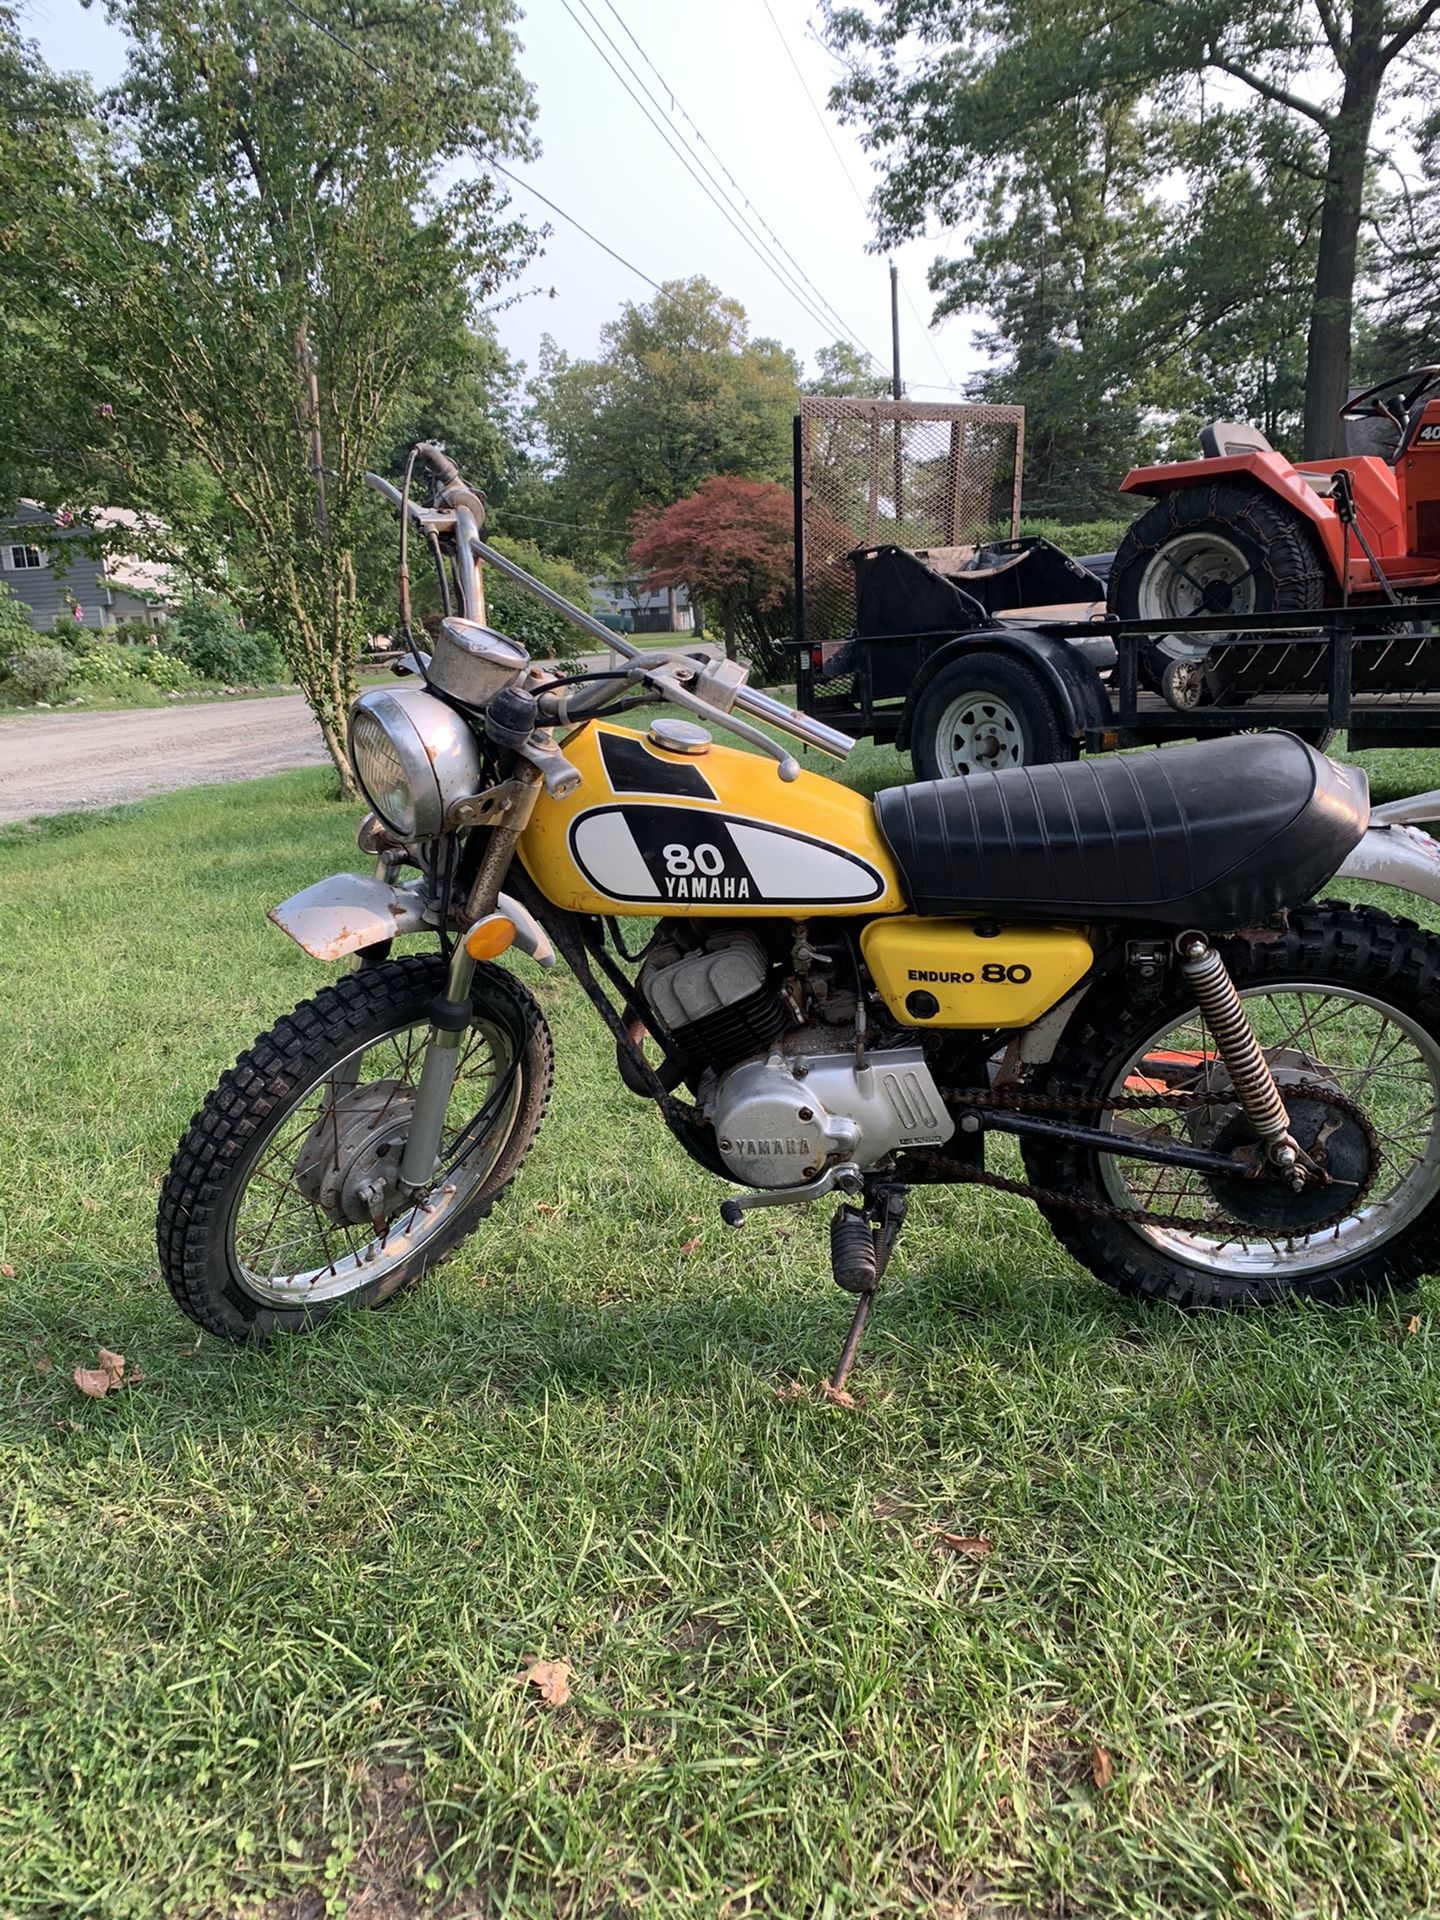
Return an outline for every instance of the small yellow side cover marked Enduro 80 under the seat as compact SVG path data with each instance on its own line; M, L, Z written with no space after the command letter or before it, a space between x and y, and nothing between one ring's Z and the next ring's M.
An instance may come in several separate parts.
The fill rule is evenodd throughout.
M868 925L860 950L902 1027L1027 1027L1094 964L1077 927L910 914Z

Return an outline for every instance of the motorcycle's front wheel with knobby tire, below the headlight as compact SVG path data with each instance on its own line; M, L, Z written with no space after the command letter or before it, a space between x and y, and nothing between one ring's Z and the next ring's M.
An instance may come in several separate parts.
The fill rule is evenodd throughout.
M159 1196L159 1265L190 1319L253 1340L378 1306L490 1213L545 1116L549 1029L518 979L476 970L440 1169L407 1192L399 1162L444 985L440 954L349 973L223 1075Z

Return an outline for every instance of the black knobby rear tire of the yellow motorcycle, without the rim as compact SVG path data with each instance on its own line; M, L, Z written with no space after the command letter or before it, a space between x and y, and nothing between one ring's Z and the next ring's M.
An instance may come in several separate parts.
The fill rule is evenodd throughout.
M1382 1162L1359 1213L1311 1238L1286 1238L1281 1229L1275 1229L1275 1238L1267 1238L1263 1231L1242 1238L1229 1227L1208 1229L1208 1235L1156 1231L1043 1204L1041 1212L1056 1238L1106 1286L1177 1308L1250 1308L1281 1300L1338 1306L1384 1288L1407 1288L1423 1273L1440 1271L1440 1119L1434 1104L1440 1100L1440 941L1377 908L1331 900L1292 912L1284 933L1236 933L1215 945L1240 995L1252 996L1252 1018L1277 1002L1294 1004L1300 995L1302 1023L1286 1043L1288 1071L1296 1079L1313 1081L1319 1077L1315 1066L1325 1064L1332 1085L1352 1098L1361 1098L1356 1091L1359 1077L1361 1104L1390 1142L1384 1148L1390 1158ZM1275 1000L1263 1002L1263 995L1273 995ZM1331 1006L1340 1012L1331 1014ZM1346 1008L1361 1014L1350 1029L1344 1027L1350 1018ZM1348 1052L1348 1046L1354 1046L1354 1035L1363 1031L1363 1020L1371 1014L1377 1021L1373 1046L1382 1046L1380 1031L1394 1031L1419 1068L1407 1068L1400 1044L1392 1054L1380 1054L1377 1068L1367 1071L1359 1066L1361 1054ZM1194 1060L1194 1054L1164 1050L1175 1046L1173 1037L1192 1016L1194 1002L1173 975L1158 1000L1139 1004L1129 981L1112 977L1081 1006L1033 1091L1104 1100L1121 1087L1137 1085L1137 1071L1156 1071L1148 1066L1150 1058ZM1206 1029L1200 1031L1204 1035ZM1263 1041L1260 1025L1256 1031ZM1275 1033L1281 1031L1277 1025ZM1150 1048L1156 1052L1150 1054ZM1135 1066L1137 1050L1146 1058L1146 1068ZM1281 1048L1271 1046L1271 1052L1281 1071ZM1392 1064L1386 1068L1386 1062ZM1400 1181L1402 1162L1409 1164L1411 1150L1396 1144L1404 1142L1405 1125L1411 1125L1396 1108L1396 1100L1411 1098L1404 1094L1407 1083L1400 1077L1402 1069L1415 1075L1413 1100L1421 1116L1413 1121L1419 1169L1407 1175L1413 1185ZM1202 1068L1206 1077L1210 1071ZM1106 1125L1100 1110L1079 1112L1077 1119ZM1146 1194L1152 1194L1150 1206L1156 1204L1150 1188L1156 1167L1144 1162L1037 1140L1027 1140L1023 1152L1025 1173L1037 1187L1102 1208L1142 1206ZM1384 1179L1390 1179L1386 1165L1396 1177L1396 1198L1384 1187ZM1129 1183L1129 1169L1137 1169L1137 1185L1131 1188L1133 1198L1121 1202L1117 1187ZM1183 1204L1177 1204L1177 1215L1196 1213L1204 1179L1194 1177ZM1162 1204L1169 1198L1165 1194Z

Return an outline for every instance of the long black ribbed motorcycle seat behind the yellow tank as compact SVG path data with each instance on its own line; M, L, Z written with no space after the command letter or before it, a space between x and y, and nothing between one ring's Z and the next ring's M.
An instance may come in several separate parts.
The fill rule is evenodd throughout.
M1240 733L876 795L916 914L1254 925L1308 900L1369 824L1369 785L1292 733Z

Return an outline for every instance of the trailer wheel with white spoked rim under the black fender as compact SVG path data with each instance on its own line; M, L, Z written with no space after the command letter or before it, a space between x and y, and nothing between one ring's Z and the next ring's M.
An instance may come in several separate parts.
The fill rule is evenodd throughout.
M910 758L916 780L958 780L1077 760L1079 745L1039 674L981 651L943 666L920 695Z

